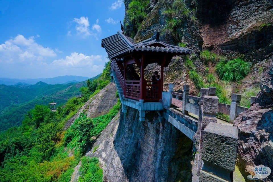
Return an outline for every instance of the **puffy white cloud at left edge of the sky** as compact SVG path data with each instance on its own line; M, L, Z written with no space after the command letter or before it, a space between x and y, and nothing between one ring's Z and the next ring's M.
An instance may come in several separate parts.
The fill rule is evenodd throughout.
M0 45L1 62L14 63L22 61L42 61L57 54L49 47L43 47L35 42L34 36L25 38L18 34Z

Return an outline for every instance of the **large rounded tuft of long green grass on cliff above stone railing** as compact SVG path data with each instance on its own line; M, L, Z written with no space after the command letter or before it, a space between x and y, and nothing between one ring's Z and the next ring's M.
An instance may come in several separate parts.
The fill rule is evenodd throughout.
M250 66L250 63L237 58L230 61L220 61L215 69L220 79L234 82L243 79L249 73Z

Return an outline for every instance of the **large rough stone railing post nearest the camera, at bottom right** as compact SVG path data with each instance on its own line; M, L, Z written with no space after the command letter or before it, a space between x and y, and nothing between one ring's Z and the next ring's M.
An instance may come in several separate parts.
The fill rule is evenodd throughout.
M238 129L209 123L204 129L200 182L231 182L235 169Z

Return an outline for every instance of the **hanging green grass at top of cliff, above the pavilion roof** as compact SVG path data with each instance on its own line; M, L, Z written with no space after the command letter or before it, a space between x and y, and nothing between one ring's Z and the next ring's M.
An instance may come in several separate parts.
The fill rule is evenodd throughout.
M130 32L131 38L135 36L139 29L141 22L147 16L146 9L149 5L149 0L132 0L129 3L127 14L133 26L133 32Z

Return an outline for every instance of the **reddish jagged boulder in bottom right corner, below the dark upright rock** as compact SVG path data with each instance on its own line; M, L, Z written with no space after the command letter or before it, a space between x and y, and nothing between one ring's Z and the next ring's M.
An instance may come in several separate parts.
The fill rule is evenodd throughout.
M233 122L239 130L237 166L247 181L247 162L273 169L273 109L258 104L241 113ZM249 180L250 181L250 180ZM270 175L267 181L273 181Z

